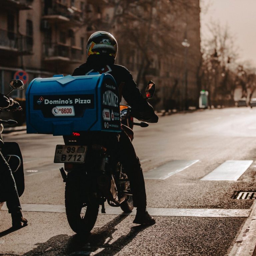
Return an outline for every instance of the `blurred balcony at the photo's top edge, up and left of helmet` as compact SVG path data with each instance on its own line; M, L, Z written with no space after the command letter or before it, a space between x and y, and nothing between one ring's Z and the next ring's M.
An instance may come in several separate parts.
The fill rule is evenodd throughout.
M44 6L42 19L49 23L59 23L65 26L80 26L84 23L83 12L78 8L53 0L52 6Z

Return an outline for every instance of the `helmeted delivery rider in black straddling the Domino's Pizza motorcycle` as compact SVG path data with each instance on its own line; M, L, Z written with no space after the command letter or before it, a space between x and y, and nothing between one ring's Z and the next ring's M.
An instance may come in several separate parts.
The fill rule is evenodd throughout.
M87 42L88 58L86 63L76 68L72 75L88 75L91 72L111 74L119 87L119 94L121 93L125 101L132 107L131 115L141 121L157 123L158 116L153 107L142 97L131 73L125 67L114 64L116 54L117 42L114 36L104 31L95 32ZM133 205L137 207L133 223L155 224L155 219L146 210L145 182L140 161L124 130L120 133L119 142L112 144L112 150L119 158L130 179Z

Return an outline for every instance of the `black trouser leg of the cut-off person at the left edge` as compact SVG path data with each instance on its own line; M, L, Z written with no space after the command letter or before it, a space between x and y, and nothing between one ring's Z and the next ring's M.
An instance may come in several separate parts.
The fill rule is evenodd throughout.
M9 213L21 210L12 171L0 151L0 201L1 200L6 201Z

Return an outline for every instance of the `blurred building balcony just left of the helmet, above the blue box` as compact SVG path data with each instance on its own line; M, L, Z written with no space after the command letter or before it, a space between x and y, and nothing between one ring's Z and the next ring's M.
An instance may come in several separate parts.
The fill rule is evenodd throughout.
M81 63L82 62L82 49L75 46L68 46L65 44L43 44L44 61L57 63L66 62Z

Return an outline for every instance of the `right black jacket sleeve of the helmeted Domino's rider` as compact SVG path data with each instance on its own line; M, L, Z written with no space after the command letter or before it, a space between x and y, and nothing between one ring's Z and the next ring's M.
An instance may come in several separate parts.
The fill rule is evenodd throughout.
M123 68L124 86L122 95L132 107L132 116L145 122L157 123L158 116L153 107L142 97L139 88L133 80L131 73Z

